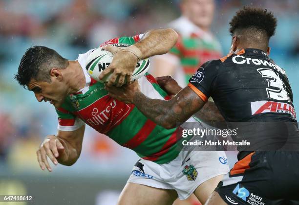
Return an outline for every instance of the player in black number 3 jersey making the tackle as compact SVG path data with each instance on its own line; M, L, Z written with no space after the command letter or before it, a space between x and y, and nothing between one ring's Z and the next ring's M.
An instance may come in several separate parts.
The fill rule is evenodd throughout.
M285 70L269 58L269 39L277 20L267 10L244 7L230 26L230 54L198 68L188 86L171 100L150 99L137 82L119 89L107 86L107 90L168 129L199 111L212 96L226 121L258 126L248 127L250 136L235 137L247 137L256 147L238 147L238 161L206 204L299 205L299 135L293 93Z

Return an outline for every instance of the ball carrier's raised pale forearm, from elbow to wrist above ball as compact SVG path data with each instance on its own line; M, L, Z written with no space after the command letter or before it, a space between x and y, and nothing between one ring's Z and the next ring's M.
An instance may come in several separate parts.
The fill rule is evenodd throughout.
M141 58L167 53L176 43L177 33L171 29L155 29L147 32L142 40L134 44L141 51Z

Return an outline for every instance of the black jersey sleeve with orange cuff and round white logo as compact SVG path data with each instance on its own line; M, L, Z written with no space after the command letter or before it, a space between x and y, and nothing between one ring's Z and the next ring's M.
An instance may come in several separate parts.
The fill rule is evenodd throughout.
M206 102L214 91L215 79L218 74L219 60L208 61L203 64L189 79L190 87L198 96Z

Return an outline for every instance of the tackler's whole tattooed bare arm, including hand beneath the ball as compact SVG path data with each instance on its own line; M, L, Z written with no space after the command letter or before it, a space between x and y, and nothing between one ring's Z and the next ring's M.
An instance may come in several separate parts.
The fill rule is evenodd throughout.
M137 81L121 88L106 86L106 89L111 97L135 104L150 120L167 129L185 122L205 104L189 87L179 91L168 101L148 98L140 91Z

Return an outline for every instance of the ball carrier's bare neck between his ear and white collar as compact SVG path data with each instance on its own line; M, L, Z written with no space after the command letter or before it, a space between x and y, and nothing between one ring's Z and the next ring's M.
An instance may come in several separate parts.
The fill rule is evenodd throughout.
M69 61L68 86L69 94L76 93L85 87L85 75L78 61Z

